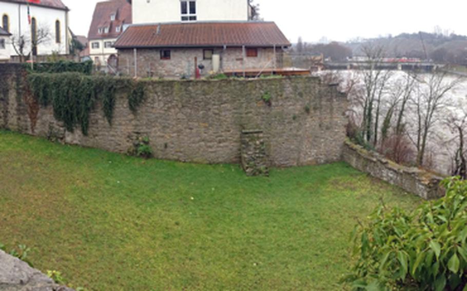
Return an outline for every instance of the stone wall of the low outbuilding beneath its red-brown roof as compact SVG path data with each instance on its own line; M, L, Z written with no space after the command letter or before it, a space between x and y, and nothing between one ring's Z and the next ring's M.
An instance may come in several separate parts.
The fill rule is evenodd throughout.
M245 69L274 68L274 49L258 48L257 57L242 57L242 48L214 49L215 54L221 55L221 71ZM161 59L159 49L137 50L137 74L139 77L176 77L194 76L194 58L198 65L204 65L203 75L212 71L212 60L203 59L202 48L170 49L170 59ZM276 65L281 66L282 50L276 51ZM132 49L119 50L119 71L134 76L134 51Z

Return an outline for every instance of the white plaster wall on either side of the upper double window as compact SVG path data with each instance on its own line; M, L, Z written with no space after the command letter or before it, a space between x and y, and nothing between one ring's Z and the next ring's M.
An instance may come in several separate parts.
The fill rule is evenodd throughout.
M196 0L198 21L247 21L247 0ZM133 0L133 24L181 21L180 0Z

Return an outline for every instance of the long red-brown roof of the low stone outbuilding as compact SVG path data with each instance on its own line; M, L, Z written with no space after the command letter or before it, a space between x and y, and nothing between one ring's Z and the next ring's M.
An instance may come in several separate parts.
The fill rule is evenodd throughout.
M274 22L210 22L132 25L115 48L280 47L289 41Z

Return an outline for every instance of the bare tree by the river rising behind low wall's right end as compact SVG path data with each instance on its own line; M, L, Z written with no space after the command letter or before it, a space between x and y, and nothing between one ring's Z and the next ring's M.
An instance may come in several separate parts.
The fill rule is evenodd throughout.
M445 72L433 72L419 77L420 91L412 98L416 114L417 165L423 165L427 140L433 126L440 121L440 111L447 105L447 93L461 78L446 78Z

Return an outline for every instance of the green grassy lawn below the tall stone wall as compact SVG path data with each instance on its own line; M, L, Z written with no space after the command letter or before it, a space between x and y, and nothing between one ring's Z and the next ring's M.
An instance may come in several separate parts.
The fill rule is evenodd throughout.
M248 178L0 131L0 242L91 290L341 289L381 197L420 201L345 163Z

